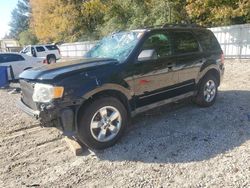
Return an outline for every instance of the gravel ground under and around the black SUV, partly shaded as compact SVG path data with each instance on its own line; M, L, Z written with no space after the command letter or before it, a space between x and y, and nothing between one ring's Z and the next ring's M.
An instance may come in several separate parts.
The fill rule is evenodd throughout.
M226 61L214 106L146 112L117 145L79 157L19 97L0 90L0 187L250 187L250 61Z

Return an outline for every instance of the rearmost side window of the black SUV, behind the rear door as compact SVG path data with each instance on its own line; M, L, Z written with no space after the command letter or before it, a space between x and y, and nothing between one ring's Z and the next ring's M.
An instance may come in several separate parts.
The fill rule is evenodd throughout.
M215 38L214 34L211 31L197 30L194 31L194 33L199 39L202 49L204 51L221 50L217 39Z

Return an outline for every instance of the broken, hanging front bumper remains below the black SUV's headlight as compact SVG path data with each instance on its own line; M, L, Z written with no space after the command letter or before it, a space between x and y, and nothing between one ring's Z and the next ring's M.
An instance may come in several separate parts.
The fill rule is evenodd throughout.
M50 108L43 111L33 110L22 100L17 102L17 107L29 116L35 118L43 127L57 127L63 131L66 136L76 134L76 116L75 108Z

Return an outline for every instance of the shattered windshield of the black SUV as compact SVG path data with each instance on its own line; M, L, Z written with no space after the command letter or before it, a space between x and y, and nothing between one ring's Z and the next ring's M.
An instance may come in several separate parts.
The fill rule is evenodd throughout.
M119 32L104 37L86 55L88 58L112 58L123 62L143 32Z

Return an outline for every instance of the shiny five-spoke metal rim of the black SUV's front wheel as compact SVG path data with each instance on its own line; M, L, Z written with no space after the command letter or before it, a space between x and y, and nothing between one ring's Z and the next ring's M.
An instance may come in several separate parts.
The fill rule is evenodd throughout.
M119 133L121 123L120 112L115 107L105 106L94 114L90 123L90 131L98 142L108 142Z

